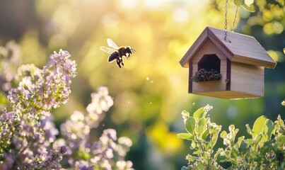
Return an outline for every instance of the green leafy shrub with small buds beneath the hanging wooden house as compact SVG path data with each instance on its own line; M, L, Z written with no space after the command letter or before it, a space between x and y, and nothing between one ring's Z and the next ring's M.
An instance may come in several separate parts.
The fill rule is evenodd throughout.
M187 133L178 137L191 141L194 152L188 154L188 166L182 169L284 169L285 168L285 125L279 115L273 123L264 115L255 120L253 128L246 125L249 135L236 138L238 129L228 127L229 132L221 132L225 148L214 151L221 131L221 125L211 123L207 113L211 106L199 108L192 115L182 111ZM223 163L230 164L228 168Z

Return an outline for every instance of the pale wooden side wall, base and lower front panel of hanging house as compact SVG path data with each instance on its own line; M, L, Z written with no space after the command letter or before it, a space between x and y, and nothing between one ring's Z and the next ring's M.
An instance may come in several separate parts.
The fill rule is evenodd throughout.
M192 94L226 99L260 98L264 96L264 67L231 62L229 83L230 90L222 80L193 83Z

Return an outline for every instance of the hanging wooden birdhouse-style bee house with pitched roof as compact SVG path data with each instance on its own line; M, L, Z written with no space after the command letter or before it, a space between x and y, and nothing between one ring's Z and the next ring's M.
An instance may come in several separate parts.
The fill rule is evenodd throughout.
M207 27L180 64L189 68L190 94L236 99L264 96L264 67L276 62L255 38L227 32L225 40L225 30Z

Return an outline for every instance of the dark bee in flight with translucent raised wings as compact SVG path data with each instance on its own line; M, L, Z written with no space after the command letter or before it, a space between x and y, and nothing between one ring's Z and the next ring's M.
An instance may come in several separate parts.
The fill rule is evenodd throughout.
M129 46L118 47L110 38L107 38L107 45L109 47L101 46L100 50L110 54L108 62L114 62L116 60L117 66L120 67L120 69L124 67L123 57L126 57L127 60L129 60L132 53L136 51Z

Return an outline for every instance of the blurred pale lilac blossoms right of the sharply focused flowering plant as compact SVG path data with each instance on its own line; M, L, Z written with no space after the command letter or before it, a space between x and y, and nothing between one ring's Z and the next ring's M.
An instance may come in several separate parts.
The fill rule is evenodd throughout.
M90 132L98 127L104 118L104 112L113 105L113 100L106 87L98 88L97 93L91 94L92 101L87 106L87 115L74 111L70 120L61 125L62 139L54 142L66 145L70 169L120 169L132 170L132 162L124 157L132 146L128 137L119 137L113 129L106 129L98 140L91 139Z

